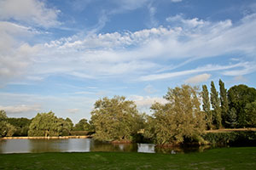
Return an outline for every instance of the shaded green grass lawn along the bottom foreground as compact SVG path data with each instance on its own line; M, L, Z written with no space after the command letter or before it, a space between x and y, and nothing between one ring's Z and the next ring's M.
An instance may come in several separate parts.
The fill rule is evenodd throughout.
M256 147L190 154L124 152L1 154L0 169L256 169Z

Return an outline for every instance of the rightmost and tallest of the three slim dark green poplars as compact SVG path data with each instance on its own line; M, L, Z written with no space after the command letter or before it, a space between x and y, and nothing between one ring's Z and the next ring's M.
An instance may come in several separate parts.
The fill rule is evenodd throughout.
M219 85L221 118L222 118L223 125L226 126L228 114L230 113L228 94L227 94L227 89L224 87L224 82L222 82L220 79L218 81L218 85Z

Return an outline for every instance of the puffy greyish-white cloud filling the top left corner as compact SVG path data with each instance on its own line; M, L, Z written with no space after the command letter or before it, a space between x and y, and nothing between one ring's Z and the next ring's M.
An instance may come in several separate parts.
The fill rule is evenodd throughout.
M50 27L58 26L59 10L47 8L38 0L1 0L0 20L17 20L28 24Z

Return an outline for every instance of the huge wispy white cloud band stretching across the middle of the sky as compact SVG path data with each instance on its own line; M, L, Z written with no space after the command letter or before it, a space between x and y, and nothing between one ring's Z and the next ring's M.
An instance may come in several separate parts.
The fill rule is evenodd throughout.
M125 75L127 78L128 76L133 77L133 79L139 77L138 79L141 81L149 81L205 71L218 71L219 65L215 65L215 69L199 67L195 70L171 73L163 70L166 67L169 67L168 70L177 68L176 65L173 65L172 68L167 65L175 59L201 59L235 54L236 52L245 56L252 56L256 53L254 45L256 40L252 38L256 37L256 32L254 31L256 15L246 16L234 26L230 20L210 22L197 18L184 19L183 15L175 17L176 21L182 20L178 26L160 26L134 32L90 34L86 37L75 35L34 47L26 44L27 49L30 48L32 53L29 54L30 57L22 59L26 65L20 66L20 70L16 71L16 73L26 72L28 68L32 72L32 75L29 75L30 77L64 74L73 77L96 79L112 76L124 77ZM10 37L10 34L8 35ZM15 38L11 37L10 40L14 41ZM34 57L33 50L36 48L40 50L37 51L37 56ZM4 50L1 50L1 53L5 53ZM20 54L20 52L16 53ZM5 56L4 54L1 55ZM13 56L16 55L11 54L11 57L3 58L15 59ZM18 61L19 59L17 57ZM12 62L9 61L9 63ZM19 65L19 62L16 63ZM215 67L214 65L211 66ZM221 69L226 71L224 72L225 75L232 76L235 75L234 71L233 73L229 71L236 67L239 67L239 65L234 65L234 67L231 65L227 67L221 66ZM244 65L240 67L247 68ZM3 68L5 70L2 72L5 75L8 75L8 71L13 72L12 65L5 65ZM242 74L252 71L254 70L250 69Z

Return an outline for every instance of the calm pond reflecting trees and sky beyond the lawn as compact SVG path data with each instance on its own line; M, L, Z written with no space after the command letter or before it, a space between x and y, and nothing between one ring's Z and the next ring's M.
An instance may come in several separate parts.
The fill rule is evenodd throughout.
M144 153L187 153L203 151L204 147L159 148L154 144L109 144L94 139L3 139L0 140L0 153L40 153L40 152L144 152Z

